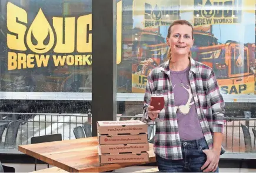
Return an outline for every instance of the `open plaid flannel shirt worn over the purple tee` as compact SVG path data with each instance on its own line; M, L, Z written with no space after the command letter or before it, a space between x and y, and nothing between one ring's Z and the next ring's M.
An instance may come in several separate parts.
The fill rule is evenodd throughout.
M211 149L213 133L224 131L224 100L212 69L192 58L190 62L189 82L194 95L195 107L205 140ZM148 75L143 121L150 121L147 107L150 104L151 94L164 94L165 108L159 113L159 119L164 119L164 121L155 122L154 152L166 159L182 159L174 93L168 71L169 61L152 69ZM222 148L221 154L224 152Z

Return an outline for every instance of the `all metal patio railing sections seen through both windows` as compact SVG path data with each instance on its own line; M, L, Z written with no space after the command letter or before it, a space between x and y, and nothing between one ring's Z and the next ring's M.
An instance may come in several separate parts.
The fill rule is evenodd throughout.
M62 139L75 139L73 128L82 125L88 121L88 114L32 114L32 113L2 113L1 121L11 122L17 118L22 118L16 138L16 145L30 144L31 137L62 134ZM131 118L141 119L141 116L123 116L117 115L117 119L128 120ZM4 119L4 120L3 120ZM224 128L224 139L222 145L228 152L245 152L244 134L241 124L247 125L250 130L252 148L255 148L255 137L252 128L256 128L256 118L226 118L227 122ZM152 137L155 134L155 124ZM4 142L5 133L2 135ZM151 137L151 138L152 138ZM17 147L16 146L16 147ZM1 148L0 148L1 149Z

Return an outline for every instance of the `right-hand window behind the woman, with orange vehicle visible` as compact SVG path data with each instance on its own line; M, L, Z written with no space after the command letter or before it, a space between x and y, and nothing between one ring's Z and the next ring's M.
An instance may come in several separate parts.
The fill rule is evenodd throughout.
M225 100L227 126L222 145L228 152L247 151L241 128L241 124L247 124L254 147L255 2L123 0L121 3L118 117L128 120L134 119L128 116L141 116L147 76L167 58L169 25L185 19L194 27L192 58L213 69ZM251 113L247 121L244 111ZM149 136L152 139L154 131Z

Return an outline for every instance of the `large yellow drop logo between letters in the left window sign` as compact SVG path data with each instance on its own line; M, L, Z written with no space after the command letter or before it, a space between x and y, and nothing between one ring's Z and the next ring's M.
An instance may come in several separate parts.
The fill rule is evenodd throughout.
M44 54L54 45L54 32L45 18L42 9L39 9L34 21L28 29L26 43L31 51Z

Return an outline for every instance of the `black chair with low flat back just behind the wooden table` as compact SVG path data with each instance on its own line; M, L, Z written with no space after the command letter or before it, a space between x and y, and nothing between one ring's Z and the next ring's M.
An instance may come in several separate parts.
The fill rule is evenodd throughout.
M31 138L31 144L38 144L38 143L44 143L44 142L54 142L54 141L62 141L62 135L61 134L54 134L54 135L44 135L44 136L32 137ZM47 164L47 167L49 168L49 164ZM35 171L36 171L36 158L35 158Z

